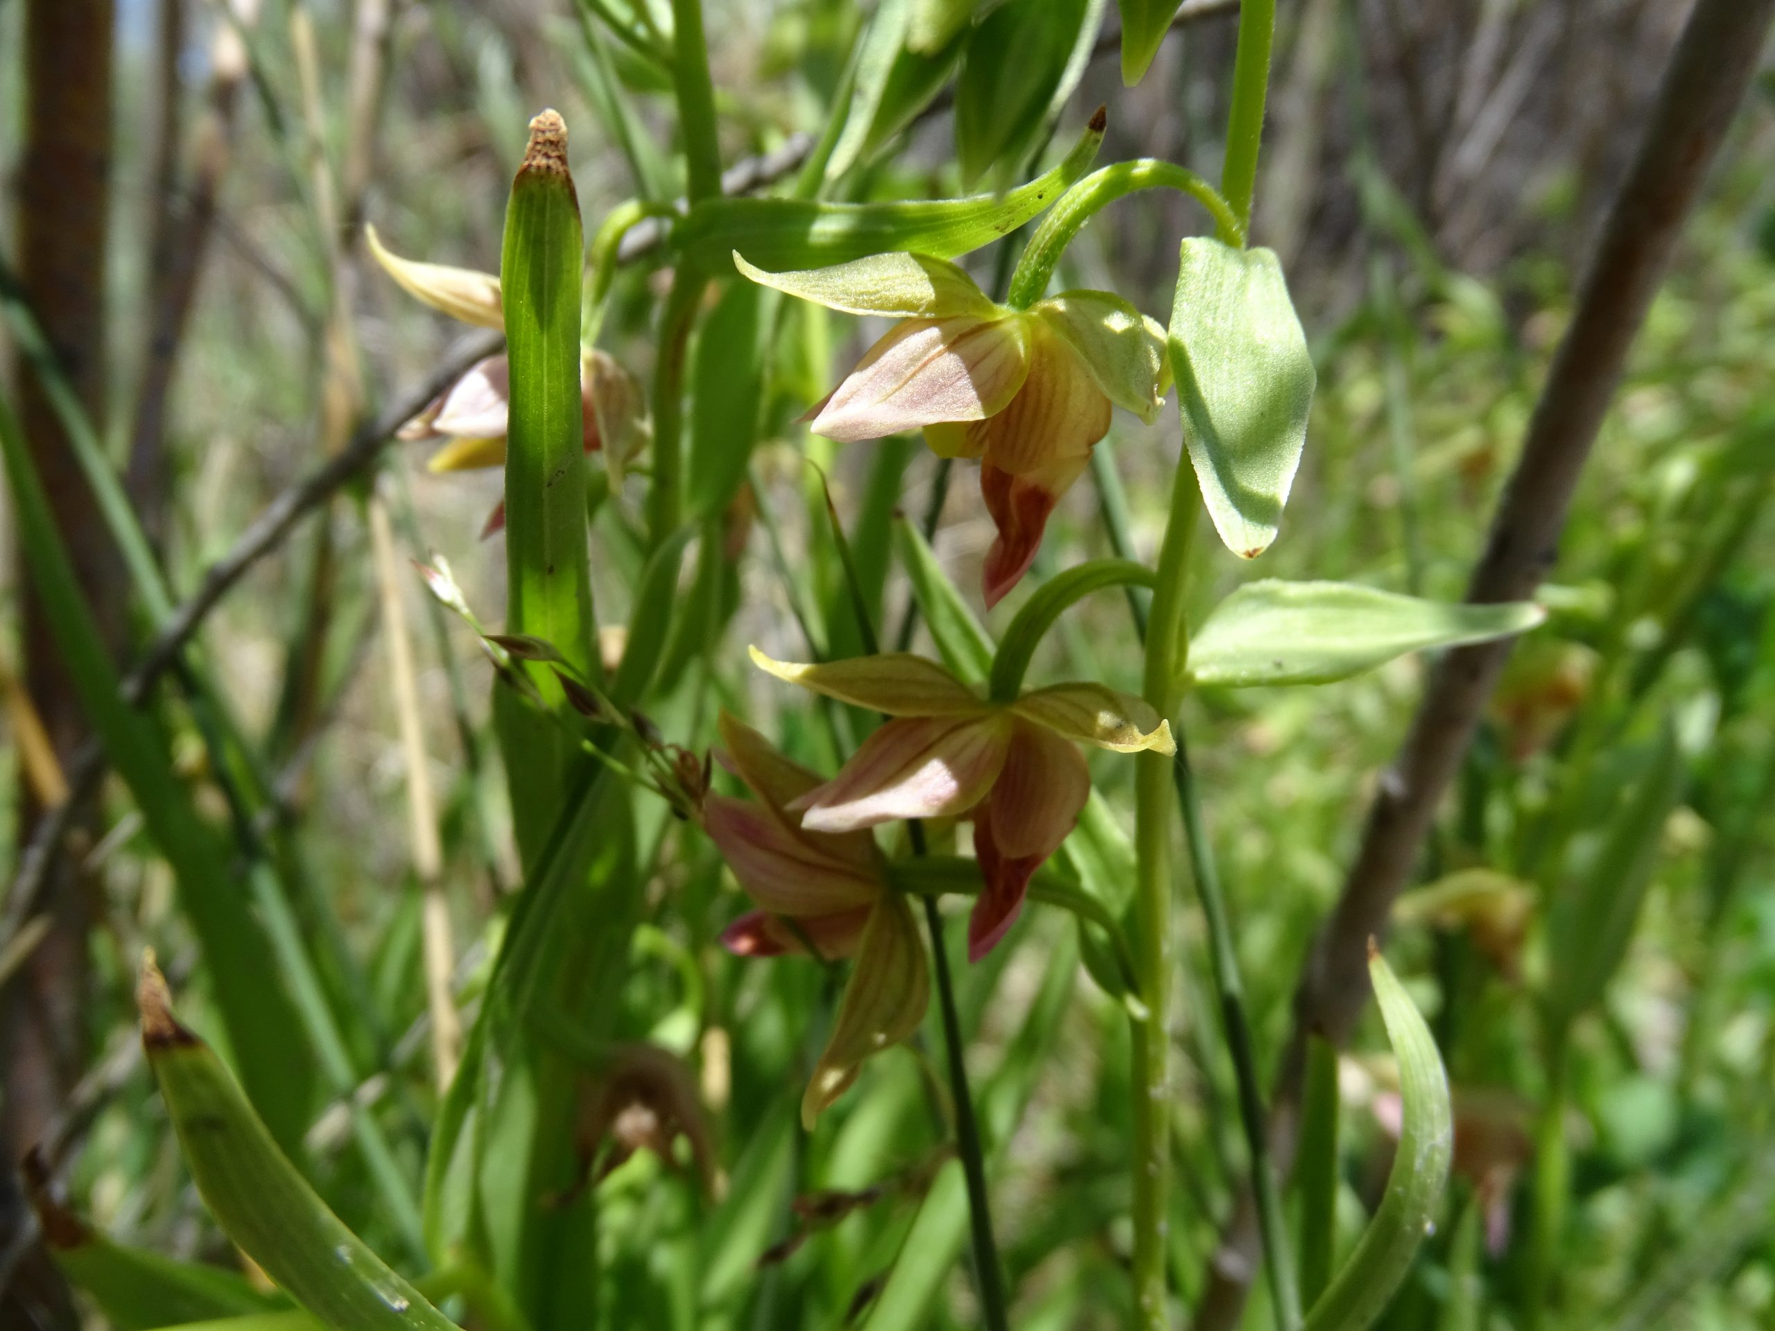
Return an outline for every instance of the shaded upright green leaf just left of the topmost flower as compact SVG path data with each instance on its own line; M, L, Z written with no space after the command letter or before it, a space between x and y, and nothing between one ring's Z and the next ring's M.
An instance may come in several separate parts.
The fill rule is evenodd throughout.
M777 298L733 280L703 321L690 364L690 470L696 518L719 518L753 458L763 399L765 355Z

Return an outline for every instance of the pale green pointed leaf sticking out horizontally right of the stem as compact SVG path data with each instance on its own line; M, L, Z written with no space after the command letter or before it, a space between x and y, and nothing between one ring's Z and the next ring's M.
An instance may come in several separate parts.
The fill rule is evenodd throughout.
M1521 634L1546 618L1532 602L1471 605L1353 582L1248 582L1189 642L1189 678L1246 689L1331 683L1425 648Z

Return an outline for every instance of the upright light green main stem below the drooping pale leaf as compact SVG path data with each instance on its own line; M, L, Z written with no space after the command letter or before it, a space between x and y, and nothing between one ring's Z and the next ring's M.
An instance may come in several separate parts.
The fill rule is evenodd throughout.
M1159 547L1157 586L1147 625L1141 694L1161 717L1175 715L1187 650L1184 591L1189 539L1202 511L1196 474L1179 465L1172 511ZM1134 1020L1134 1308L1136 1326L1163 1331L1164 1237L1170 1184L1170 1004L1172 1004L1172 760L1141 752L1134 770L1134 919L1145 1020Z

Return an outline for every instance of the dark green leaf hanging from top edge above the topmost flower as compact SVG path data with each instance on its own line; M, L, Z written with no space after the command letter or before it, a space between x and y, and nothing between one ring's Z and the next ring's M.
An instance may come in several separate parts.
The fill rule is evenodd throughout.
M1090 9L1088 0L1010 0L967 34L955 82L955 154L964 186L994 163L1021 165Z

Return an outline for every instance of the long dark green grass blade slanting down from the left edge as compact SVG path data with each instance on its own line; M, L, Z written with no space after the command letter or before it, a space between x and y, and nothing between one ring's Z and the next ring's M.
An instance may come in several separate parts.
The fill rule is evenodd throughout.
M165 735L122 699L117 667L80 595L37 469L4 399L0 453L12 486L20 543L69 681L106 756L130 786L149 836L172 866L179 907L215 981L241 1081L277 1139L295 1148L307 1127L312 1065L304 1054L307 1044L279 980L272 946L229 873L222 847L197 816L185 783L174 776Z

